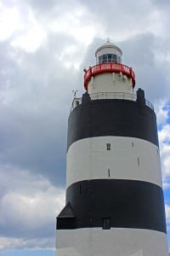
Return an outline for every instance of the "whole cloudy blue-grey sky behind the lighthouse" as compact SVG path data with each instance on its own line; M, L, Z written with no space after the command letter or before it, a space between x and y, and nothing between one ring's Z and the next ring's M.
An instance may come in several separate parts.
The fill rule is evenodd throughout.
M1 255L54 255L72 91L107 38L157 114L170 248L169 13L169 0L0 0Z

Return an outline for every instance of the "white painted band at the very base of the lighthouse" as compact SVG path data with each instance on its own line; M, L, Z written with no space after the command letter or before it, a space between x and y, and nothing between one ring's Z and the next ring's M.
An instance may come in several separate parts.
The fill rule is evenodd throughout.
M153 230L115 228L101 230L99 228L90 228L59 230L58 236L59 243L56 256L160 256L163 251L167 251L166 234ZM66 247L65 241L67 241ZM168 254L164 253L163 255Z

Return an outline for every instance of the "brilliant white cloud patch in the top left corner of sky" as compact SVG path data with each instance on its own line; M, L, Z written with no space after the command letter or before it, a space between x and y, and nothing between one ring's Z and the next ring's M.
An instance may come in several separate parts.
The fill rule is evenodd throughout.
M34 52L46 38L43 26L38 23L29 5L7 6L0 9L0 40L11 39L13 47Z

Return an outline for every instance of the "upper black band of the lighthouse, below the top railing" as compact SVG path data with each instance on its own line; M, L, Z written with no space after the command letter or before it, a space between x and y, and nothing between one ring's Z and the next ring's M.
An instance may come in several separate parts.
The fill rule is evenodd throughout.
M96 100L75 108L69 117L67 148L88 137L137 137L158 146L154 111L127 100Z

